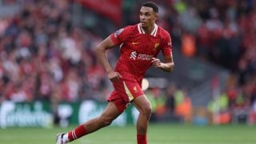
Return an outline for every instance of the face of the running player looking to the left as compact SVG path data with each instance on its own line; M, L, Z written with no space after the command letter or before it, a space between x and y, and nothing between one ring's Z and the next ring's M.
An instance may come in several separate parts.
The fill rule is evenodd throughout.
M154 26L154 23L158 18L158 14L154 13L153 8L142 6L139 12L139 18L142 23L142 27Z

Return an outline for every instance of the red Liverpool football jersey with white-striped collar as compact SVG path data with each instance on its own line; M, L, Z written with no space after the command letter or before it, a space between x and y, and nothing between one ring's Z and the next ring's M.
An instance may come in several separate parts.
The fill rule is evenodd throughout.
M137 81L140 85L146 70L152 65L160 50L163 55L171 55L170 34L158 25L154 25L151 34L145 34L140 23L126 26L114 34L111 39L116 46L120 45L120 57L115 70L128 81Z

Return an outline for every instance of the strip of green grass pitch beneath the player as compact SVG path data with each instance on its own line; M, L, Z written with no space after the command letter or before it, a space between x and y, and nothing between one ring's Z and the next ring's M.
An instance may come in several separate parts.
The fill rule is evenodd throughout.
M74 128L0 129L1 144L50 144L55 134ZM150 124L149 144L256 144L256 126ZM108 126L70 144L136 144L135 126Z

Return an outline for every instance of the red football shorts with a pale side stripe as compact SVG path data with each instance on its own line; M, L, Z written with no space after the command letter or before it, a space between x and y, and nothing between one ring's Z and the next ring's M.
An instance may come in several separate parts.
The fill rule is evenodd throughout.
M144 94L138 82L129 82L120 78L118 82L113 82L113 86L114 91L110 94L107 101L114 102L121 113L126 110L126 106L128 106L134 98Z

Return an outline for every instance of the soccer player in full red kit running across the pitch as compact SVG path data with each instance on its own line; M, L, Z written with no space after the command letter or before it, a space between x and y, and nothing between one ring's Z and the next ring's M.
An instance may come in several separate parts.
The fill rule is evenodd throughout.
M114 91L108 98L106 109L97 118L78 126L69 133L57 134L57 144L65 144L109 126L133 104L139 111L137 122L137 142L146 144L147 127L151 114L150 102L142 91L142 78L150 66L170 72L174 68L170 34L155 22L158 18L158 6L154 2L145 2L139 12L140 22L126 26L97 46L97 55L105 68L107 77L113 83ZM120 46L120 57L113 69L106 57L106 50ZM164 55L164 62L157 56Z

